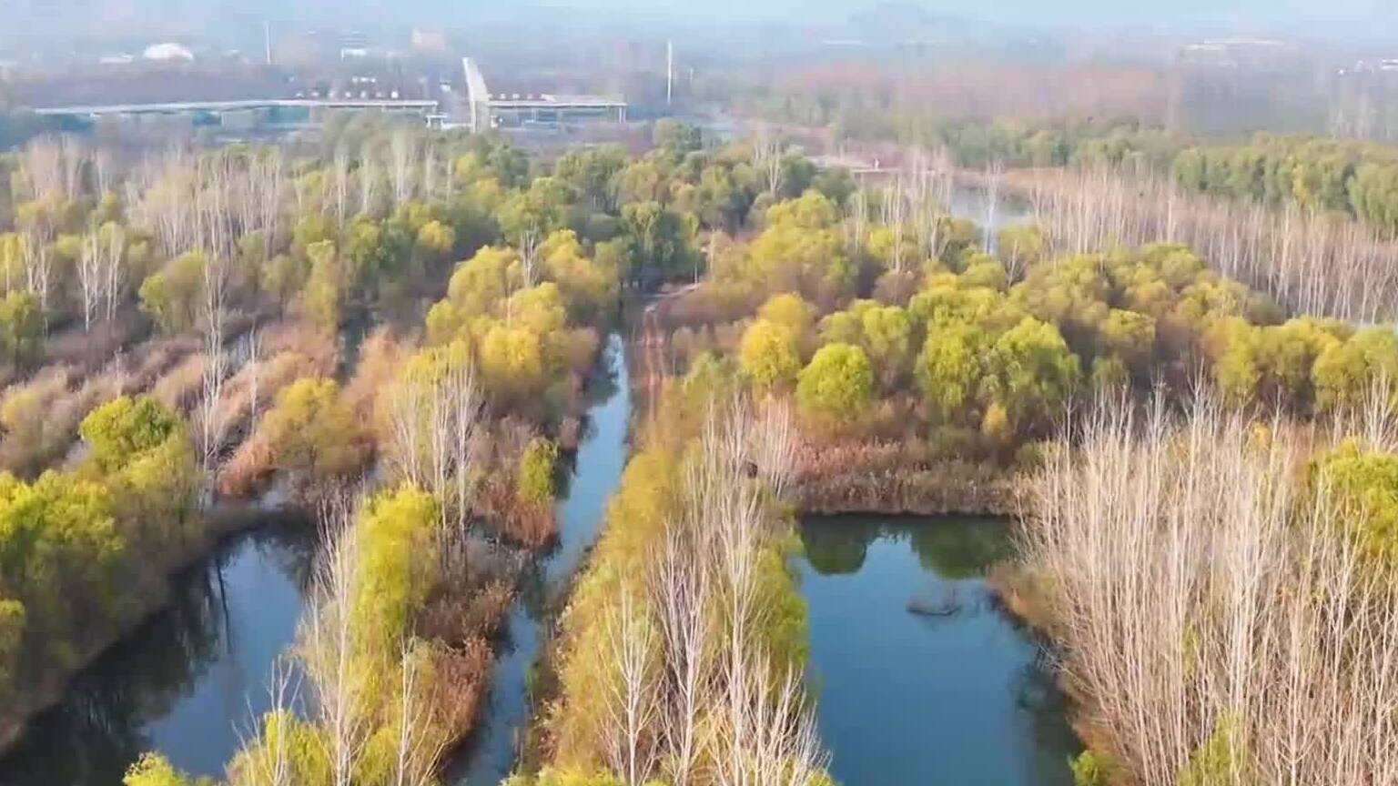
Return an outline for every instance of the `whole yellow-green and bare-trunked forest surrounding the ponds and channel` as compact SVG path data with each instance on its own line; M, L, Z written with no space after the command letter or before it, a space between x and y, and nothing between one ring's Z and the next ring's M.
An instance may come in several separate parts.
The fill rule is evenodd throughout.
M829 783L802 512L1016 513L997 586L1065 664L1082 786L1392 772L1392 267L1324 217L1078 169L988 232L953 157L860 183L675 123L640 157L361 117L41 137L4 169L6 734L226 534L211 512L284 498L320 530L305 699L226 782L436 782L640 302L649 417L510 782ZM1271 253L1295 236L1334 256Z

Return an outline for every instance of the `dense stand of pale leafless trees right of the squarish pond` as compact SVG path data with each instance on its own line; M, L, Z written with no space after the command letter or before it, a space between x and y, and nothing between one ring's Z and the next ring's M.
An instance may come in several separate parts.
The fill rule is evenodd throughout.
M1229 762L1209 783L1398 776L1392 568L1328 476L1292 480L1343 432L1268 425L1107 404L1035 484L1023 566L1125 782L1174 783L1205 745Z

